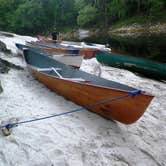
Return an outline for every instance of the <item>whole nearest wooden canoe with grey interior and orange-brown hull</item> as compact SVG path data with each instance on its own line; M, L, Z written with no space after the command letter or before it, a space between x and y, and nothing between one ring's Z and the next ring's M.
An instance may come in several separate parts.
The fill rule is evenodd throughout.
M137 89L76 70L32 50L24 50L24 58L32 74L48 88L107 119L134 123L153 99L146 93L132 97L129 94L138 92ZM126 95L129 96L122 97ZM121 100L88 107L115 98Z

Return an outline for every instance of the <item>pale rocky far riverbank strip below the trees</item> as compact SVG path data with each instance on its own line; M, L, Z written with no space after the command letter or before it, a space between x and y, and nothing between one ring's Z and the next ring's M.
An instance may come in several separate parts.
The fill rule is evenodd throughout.
M148 23L148 24L130 24L121 27L112 26L108 29L87 28L75 29L69 32L61 33L61 38L66 40L83 40L87 37L102 36L102 35L117 35L117 36L141 36L141 35L156 35L166 34L166 23Z

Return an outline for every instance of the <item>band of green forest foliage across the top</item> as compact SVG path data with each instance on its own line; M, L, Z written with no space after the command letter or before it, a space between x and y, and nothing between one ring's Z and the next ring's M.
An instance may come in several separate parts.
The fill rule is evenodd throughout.
M166 0L0 0L0 30L20 34L77 25L108 27L123 20L139 21L137 17L166 21L165 15Z

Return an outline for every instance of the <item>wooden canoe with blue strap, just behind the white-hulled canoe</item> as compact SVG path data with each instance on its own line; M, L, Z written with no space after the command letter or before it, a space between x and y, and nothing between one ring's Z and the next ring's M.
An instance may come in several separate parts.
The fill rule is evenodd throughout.
M100 50L95 48L77 48L73 46L64 46L55 43L46 43L46 42L27 42L28 46L40 48L49 52L55 53L65 53L65 54L74 54L84 56L85 59L90 59L96 56Z

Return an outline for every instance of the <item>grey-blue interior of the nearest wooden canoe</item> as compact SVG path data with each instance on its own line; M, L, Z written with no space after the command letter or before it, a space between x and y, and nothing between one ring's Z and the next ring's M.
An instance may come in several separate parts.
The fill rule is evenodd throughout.
M60 62L57 62L55 60L52 60L46 56L42 56L38 52L35 52L34 50L28 50L29 54L25 57L26 62L32 66L35 66L37 68L49 68L49 67L55 67L55 68L61 68L60 71L58 71L63 77L67 78L83 78L85 80L90 80L91 82L89 84L95 85L95 86L103 86L113 89L119 89L124 91L134 91L135 88L129 87L127 85L123 85L114 81L109 81L104 78L97 77L93 74L89 74L86 72L83 72L81 70L76 70L70 66L64 65ZM38 60L40 59L40 61ZM53 76L57 76L55 72L49 72L45 71L45 73L51 74Z

